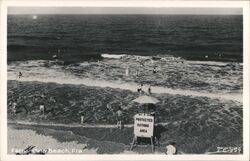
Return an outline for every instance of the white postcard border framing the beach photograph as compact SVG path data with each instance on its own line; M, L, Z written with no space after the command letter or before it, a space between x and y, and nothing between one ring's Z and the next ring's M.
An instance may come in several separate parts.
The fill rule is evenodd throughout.
M9 160L249 160L249 1L106 1L106 0L2 0L0 41L1 159ZM225 7L243 8L243 142L242 155L7 155L7 7Z

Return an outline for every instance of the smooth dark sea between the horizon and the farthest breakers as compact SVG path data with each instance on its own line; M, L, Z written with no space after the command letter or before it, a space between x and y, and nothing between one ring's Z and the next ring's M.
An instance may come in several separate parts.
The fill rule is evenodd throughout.
M109 53L242 62L242 35L241 15L9 15L8 61Z

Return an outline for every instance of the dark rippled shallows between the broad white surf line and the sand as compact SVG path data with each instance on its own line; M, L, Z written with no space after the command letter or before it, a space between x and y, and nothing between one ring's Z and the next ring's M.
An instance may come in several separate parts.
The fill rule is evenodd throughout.
M129 147L133 136L133 127L129 127L133 124L133 115L138 110L143 110L139 104L131 102L141 94L130 90L10 80L8 88L9 101L18 100L20 107L27 109L27 113L26 110L21 110L17 115L13 115L9 108L10 123L26 121L31 124L22 125L20 122L17 126L73 131L86 137L93 137L91 131L96 131L98 128L104 130L100 134L105 137L96 136L95 139L103 138L122 143L126 147ZM19 96L16 93L19 93ZM45 106L48 107L44 114L39 111L39 97L42 93L46 93ZM161 148L164 148L169 140L178 140L178 148L183 153L202 154L214 151L216 146L221 145L221 137L224 138L223 142L226 140L237 146L242 145L240 141L242 136L239 134L242 131L243 109L240 102L172 94L152 94L152 96L160 100L157 104L156 123L159 123L157 137L162 143ZM50 102L50 97L53 97L56 103ZM122 120L128 125L125 126L127 129L125 131L116 128L115 112L118 107L122 107L124 112ZM80 124L81 114L86 116L85 124L93 127L86 126L87 130L81 130L84 127ZM107 128L98 127L105 124ZM114 131L110 132L110 129ZM200 144L199 142L204 139L207 140L207 144ZM196 148L197 144L199 148Z

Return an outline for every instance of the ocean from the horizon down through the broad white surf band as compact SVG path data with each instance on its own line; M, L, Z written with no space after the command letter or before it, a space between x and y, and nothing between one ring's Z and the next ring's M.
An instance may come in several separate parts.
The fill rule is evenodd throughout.
M241 61L242 16L8 16L8 80L242 100Z

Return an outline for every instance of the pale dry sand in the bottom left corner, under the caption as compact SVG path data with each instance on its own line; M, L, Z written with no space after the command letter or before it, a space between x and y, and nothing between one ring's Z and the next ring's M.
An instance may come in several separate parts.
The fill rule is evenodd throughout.
M8 127L8 153L21 153L29 146L35 146L33 153L48 149L47 154L97 154L98 148L89 148L88 143L77 141L59 142L51 136L37 134L33 130L17 130ZM121 154L136 154L124 150Z

